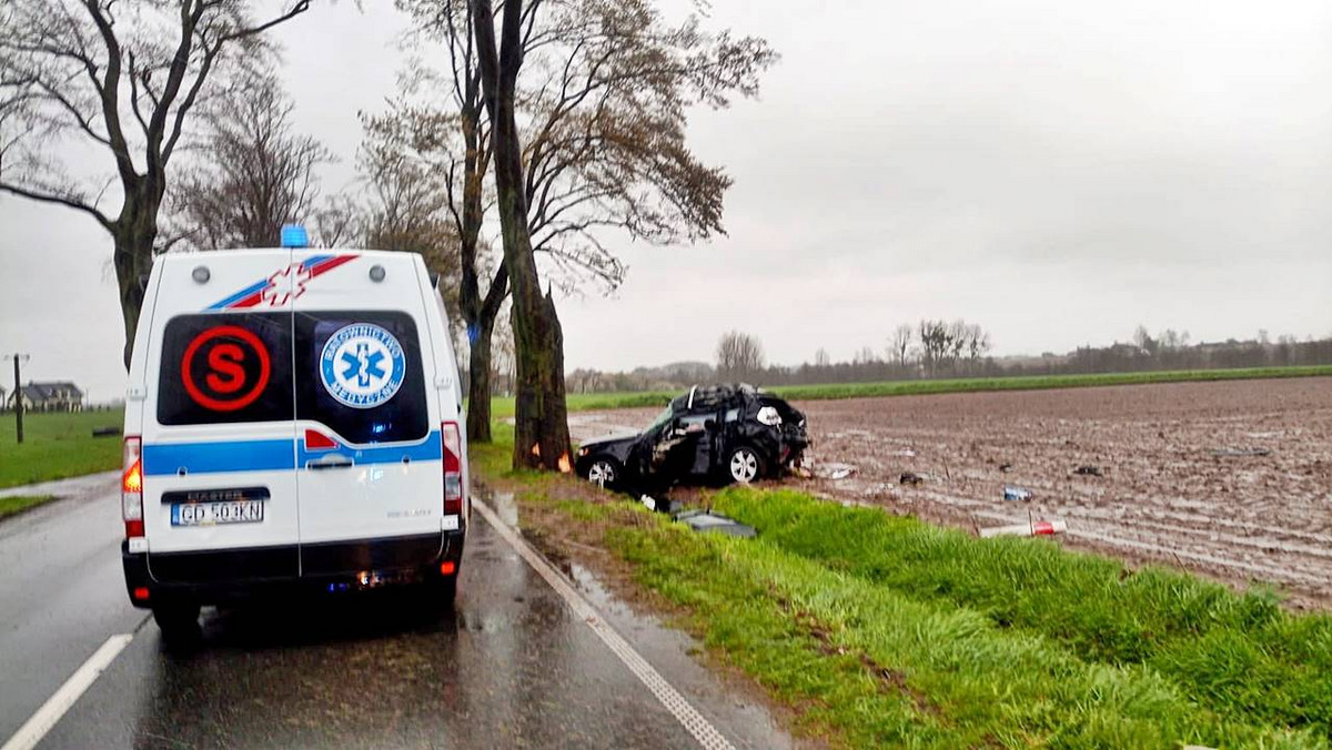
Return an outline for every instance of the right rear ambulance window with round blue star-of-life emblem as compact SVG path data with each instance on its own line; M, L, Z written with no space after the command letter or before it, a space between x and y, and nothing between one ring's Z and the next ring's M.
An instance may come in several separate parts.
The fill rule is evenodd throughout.
M421 341L398 312L296 314L296 414L352 444L430 434Z

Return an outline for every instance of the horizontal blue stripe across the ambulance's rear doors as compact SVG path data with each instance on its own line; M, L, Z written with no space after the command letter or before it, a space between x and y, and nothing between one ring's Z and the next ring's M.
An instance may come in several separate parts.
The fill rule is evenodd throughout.
M276 472L305 466L324 456L346 456L358 465L441 461L444 441L432 430L425 441L414 445L352 448L338 445L326 450L306 450L305 441L241 440L226 442L161 442L144 446L144 476L161 477L185 469L190 474L222 472Z

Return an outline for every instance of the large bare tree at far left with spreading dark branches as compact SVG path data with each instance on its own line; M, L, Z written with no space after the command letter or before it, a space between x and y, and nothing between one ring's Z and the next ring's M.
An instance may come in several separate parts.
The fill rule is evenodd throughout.
M284 0L265 17L245 0L0 5L0 190L79 210L112 236L127 366L144 297L139 280L152 264L168 165L190 112L270 63L262 32L309 4ZM108 155L113 176L71 175L53 156L71 143ZM120 206L104 210L112 184Z

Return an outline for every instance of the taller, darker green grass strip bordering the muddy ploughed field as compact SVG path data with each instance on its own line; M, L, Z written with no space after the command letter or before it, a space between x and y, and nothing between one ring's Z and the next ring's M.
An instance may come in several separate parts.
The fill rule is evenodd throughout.
M1088 663L1143 665L1235 721L1332 734L1332 618L1292 614L1271 590L1236 594L1046 541L976 540L786 490L730 489L717 508L766 544L876 590L966 607Z

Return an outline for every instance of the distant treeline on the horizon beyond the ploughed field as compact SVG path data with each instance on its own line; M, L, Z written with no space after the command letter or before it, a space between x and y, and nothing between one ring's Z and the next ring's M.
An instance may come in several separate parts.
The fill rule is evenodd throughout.
M799 365L766 364L758 338L730 332L718 344L715 362L674 362L642 366L629 372L601 372L579 368L567 373L570 393L611 393L669 390L698 382L743 381L763 386L876 382L955 377L1022 377L1092 373L1134 373L1162 370L1212 370L1237 368L1281 368L1332 365L1332 337L1299 341L1293 336L1272 340L1267 332L1256 338L1229 338L1217 342L1191 342L1188 333L1166 330L1151 336L1139 326L1130 342L1108 346L1080 346L1067 354L1044 353L1032 357L992 357L978 346L940 346L935 336L938 321L899 326L884 352L860 349L850 361L831 361L821 349L813 362ZM978 333L988 350L988 334L962 321L948 324L967 332L963 340L975 342ZM911 342L902 336L911 329ZM919 342L926 332L927 345ZM739 356L735 352L741 352Z

